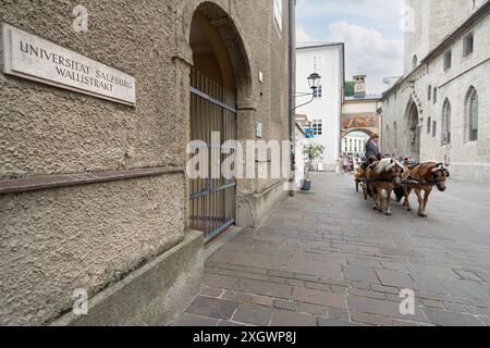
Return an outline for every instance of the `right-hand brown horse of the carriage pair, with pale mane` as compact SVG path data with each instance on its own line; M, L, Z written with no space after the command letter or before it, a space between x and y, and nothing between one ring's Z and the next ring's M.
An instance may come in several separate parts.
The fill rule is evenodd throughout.
M445 191L445 182L450 176L450 172L443 163L438 162L420 163L412 166L409 170L409 179L414 181L414 183L407 185L405 188L395 189L396 200L400 202L405 197L403 207L411 211L409 196L412 191L415 191L419 203L418 215L427 217L427 203L429 202L433 187L436 186L441 192Z

